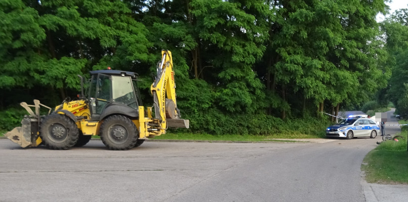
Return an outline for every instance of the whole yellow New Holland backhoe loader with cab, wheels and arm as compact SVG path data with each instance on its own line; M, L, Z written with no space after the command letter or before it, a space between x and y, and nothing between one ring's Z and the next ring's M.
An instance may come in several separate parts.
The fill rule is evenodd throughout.
M85 145L93 135L112 150L127 150L141 145L145 139L166 133L168 127L189 128L189 120L180 118L177 108L173 62L170 51L162 51L157 76L151 86L153 107L142 106L137 85L138 74L119 70L90 71L88 96L64 102L51 108L34 100L34 105L21 103L29 113L5 135L22 147L43 143L50 149L69 149ZM40 107L49 114L40 115ZM35 113L31 110L35 108ZM154 108L154 111L152 110Z

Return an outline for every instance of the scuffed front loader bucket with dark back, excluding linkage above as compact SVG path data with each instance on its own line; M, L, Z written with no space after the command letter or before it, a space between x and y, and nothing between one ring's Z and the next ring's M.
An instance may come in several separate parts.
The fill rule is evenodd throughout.
M21 127L15 127L5 136L23 148L38 146L41 143L41 139L38 137L38 119L24 117L21 121Z

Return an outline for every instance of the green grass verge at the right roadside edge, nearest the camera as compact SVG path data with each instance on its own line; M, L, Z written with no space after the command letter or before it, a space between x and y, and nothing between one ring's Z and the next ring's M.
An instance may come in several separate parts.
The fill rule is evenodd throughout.
M400 121L406 124L407 121ZM380 184L408 184L407 126L401 128L405 140L382 142L364 158L361 170L366 180Z

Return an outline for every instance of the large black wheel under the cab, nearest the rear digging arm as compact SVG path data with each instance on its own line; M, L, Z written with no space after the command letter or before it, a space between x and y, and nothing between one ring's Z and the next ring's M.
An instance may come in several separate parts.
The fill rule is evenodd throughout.
M102 142L111 150L128 150L138 142L138 128L124 116L108 117L100 131Z

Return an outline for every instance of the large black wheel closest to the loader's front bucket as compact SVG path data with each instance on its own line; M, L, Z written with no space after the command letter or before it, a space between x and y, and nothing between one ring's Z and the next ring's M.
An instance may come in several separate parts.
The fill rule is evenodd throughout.
M42 120L39 136L50 149L69 149L78 141L79 130L74 121L62 114L51 114Z

